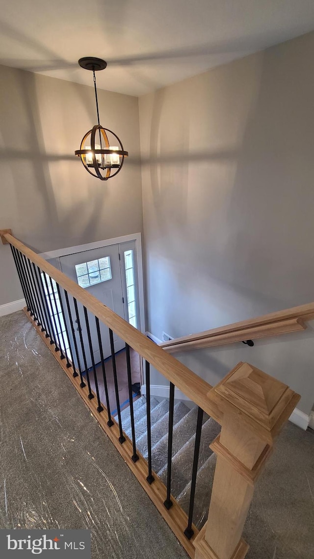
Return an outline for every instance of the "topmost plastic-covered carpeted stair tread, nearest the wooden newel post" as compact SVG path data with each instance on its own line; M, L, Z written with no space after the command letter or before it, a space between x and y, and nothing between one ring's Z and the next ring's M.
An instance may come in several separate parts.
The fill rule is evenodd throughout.
M196 479L196 491L194 498L193 523L200 530L207 520L208 507L211 500L213 478L216 467L216 454L212 453L203 466L199 468ZM184 487L177 498L180 506L188 514L191 495L191 481Z

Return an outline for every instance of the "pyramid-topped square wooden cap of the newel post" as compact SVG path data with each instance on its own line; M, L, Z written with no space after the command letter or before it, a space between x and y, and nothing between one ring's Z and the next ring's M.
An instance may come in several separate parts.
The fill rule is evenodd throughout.
M272 435L270 438L287 421L300 398L286 384L249 363L238 363L208 396L224 412L241 414L252 428L262 428Z

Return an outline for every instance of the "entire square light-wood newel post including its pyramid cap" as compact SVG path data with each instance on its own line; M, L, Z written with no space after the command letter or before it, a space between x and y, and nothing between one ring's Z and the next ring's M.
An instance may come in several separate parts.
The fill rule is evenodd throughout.
M239 363L208 397L223 410L223 421L211 444L217 464L208 520L194 540L195 559L243 559L249 546L241 536L256 480L299 395Z

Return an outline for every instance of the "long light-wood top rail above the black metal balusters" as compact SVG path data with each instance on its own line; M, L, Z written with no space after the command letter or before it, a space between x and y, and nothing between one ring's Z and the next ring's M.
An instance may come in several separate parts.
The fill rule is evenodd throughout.
M6 233L3 235L9 244L25 254L43 272L49 274L61 287L75 297L87 310L97 316L108 328L111 328L120 338L130 345L144 359L149 361L165 378L173 382L184 394L200 406L208 415L211 415L218 423L222 421L222 413L218 406L212 404L207 397L207 392L212 388L208 382L193 373L188 367L168 355L159 345L156 345L139 330L134 328L126 320L122 319L109 307L103 305L96 297L80 287L68 276L60 272L57 268L46 262L33 250L26 247L13 235Z

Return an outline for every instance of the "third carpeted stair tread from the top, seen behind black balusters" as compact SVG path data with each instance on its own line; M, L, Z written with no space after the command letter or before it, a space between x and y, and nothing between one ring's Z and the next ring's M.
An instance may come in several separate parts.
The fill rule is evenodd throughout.
M173 428L172 456L175 456L180 448L193 436L196 431L198 408L192 408L183 416ZM208 419L204 414L203 422ZM168 458L168 431L163 438L154 446L152 453L152 467L155 472L159 472L166 465Z

